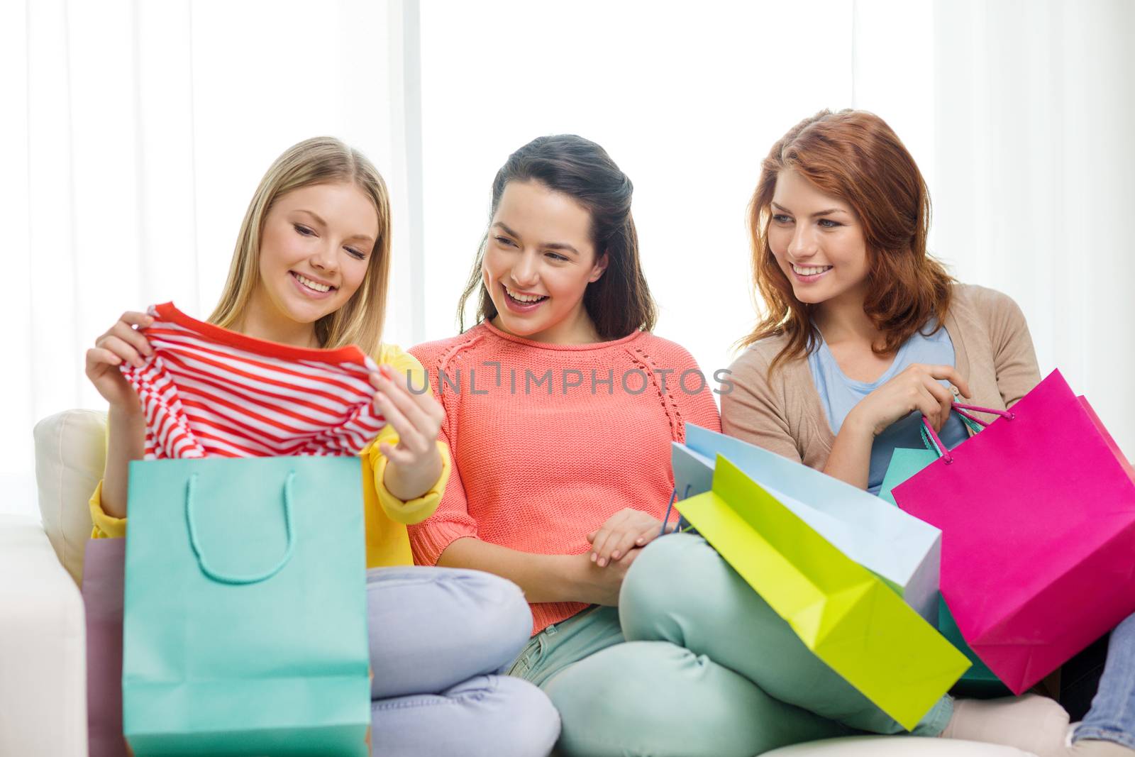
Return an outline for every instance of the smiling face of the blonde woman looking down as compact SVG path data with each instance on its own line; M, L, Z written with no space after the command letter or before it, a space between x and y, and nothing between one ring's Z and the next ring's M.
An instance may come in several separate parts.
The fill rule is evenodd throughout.
M314 322L363 283L377 237L378 212L354 184L313 184L278 196L260 235L260 280L246 320L277 340L308 328L313 335Z

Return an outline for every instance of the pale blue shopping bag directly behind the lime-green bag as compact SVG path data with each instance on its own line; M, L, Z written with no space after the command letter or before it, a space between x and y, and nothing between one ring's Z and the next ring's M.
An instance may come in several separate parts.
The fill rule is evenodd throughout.
M678 499L712 490L717 455L938 622L939 529L807 465L691 423L686 444L674 443L671 452Z

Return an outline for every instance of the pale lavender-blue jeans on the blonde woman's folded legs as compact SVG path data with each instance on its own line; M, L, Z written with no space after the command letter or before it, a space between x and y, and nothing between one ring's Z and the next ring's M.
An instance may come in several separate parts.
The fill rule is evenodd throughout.
M532 614L512 582L480 571L367 573L371 754L541 757L560 716L538 688L501 675Z

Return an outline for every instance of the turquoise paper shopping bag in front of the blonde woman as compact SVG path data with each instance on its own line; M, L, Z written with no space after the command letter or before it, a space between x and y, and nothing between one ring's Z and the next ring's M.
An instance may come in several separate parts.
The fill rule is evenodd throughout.
M143 755L368 755L358 457L129 465L123 722Z

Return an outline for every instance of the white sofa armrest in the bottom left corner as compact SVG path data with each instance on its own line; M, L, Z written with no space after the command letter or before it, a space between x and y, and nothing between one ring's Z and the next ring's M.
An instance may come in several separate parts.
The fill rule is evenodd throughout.
M0 515L0 755L86 752L83 599L39 519Z

